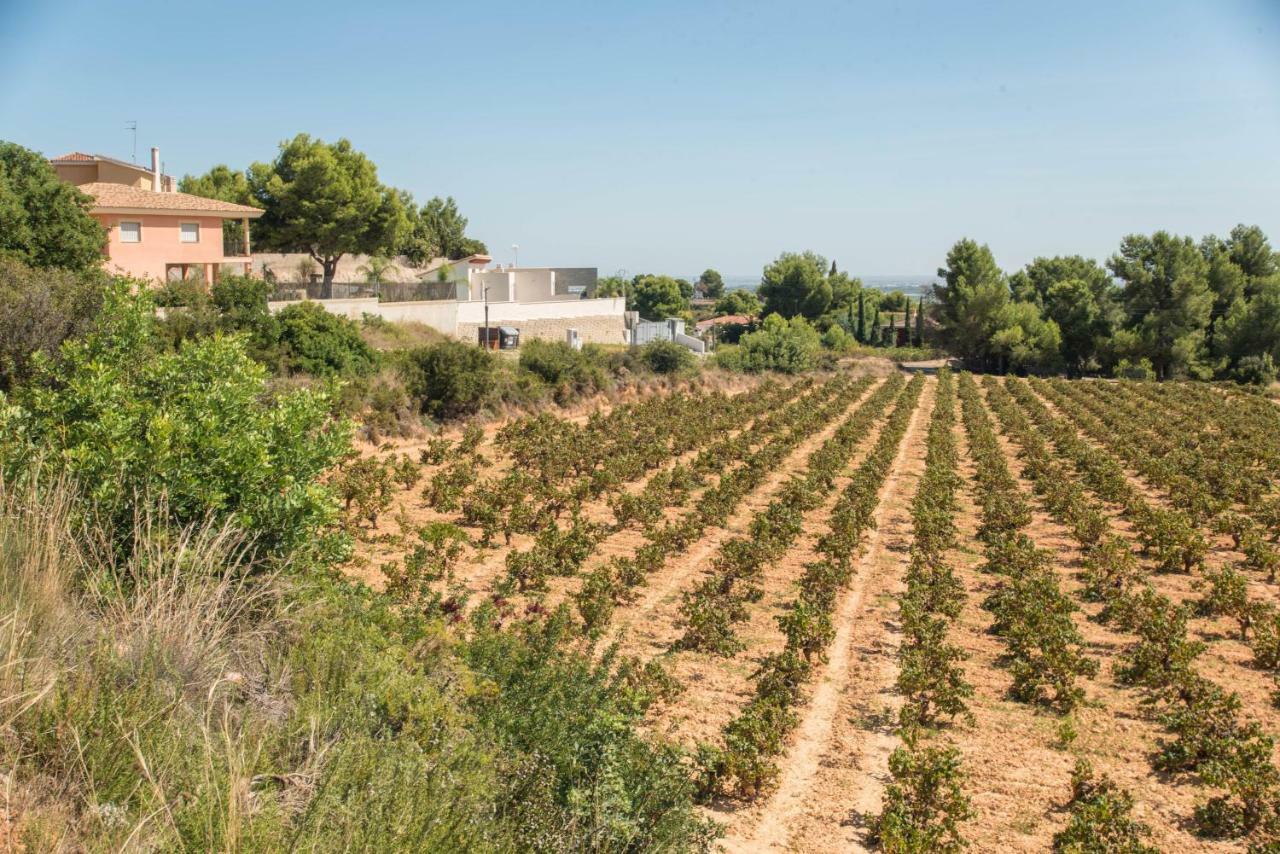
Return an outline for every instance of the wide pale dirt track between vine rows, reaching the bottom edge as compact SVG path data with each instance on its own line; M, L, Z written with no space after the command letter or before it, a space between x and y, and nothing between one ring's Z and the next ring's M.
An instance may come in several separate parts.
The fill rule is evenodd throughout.
M936 380L925 380L906 434L881 487L876 529L836 612L836 639L763 804L718 816L727 851L855 850L850 821L877 812L896 746L896 602L910 544L910 502L924 471L924 433ZM856 656L856 663L855 663Z

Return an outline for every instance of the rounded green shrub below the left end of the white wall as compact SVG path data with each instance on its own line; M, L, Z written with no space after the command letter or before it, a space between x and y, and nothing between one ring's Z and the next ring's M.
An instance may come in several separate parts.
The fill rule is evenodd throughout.
M378 366L378 353L351 320L319 302L300 302L276 315L285 365L312 376L362 375Z

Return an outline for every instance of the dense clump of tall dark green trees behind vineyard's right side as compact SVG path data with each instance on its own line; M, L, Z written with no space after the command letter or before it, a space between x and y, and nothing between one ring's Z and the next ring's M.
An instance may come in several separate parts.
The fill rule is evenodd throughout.
M983 366L1262 382L1280 362L1280 254L1257 225L1198 243L1130 234L1105 268L1038 257L1007 280L960 241L938 274L945 341Z

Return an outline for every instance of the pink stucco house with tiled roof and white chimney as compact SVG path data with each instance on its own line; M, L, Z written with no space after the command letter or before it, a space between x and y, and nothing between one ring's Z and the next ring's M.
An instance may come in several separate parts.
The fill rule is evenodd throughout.
M110 270L155 282L198 277L209 283L223 270L251 270L248 220L262 211L175 192L173 177L160 172L157 149L151 150L151 169L78 151L50 164L93 197L90 213L106 227ZM227 229L224 239L227 220L239 224L234 238Z

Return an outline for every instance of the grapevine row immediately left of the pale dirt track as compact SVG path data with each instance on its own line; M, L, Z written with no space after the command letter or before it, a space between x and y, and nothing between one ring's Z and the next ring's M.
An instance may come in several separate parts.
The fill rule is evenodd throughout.
M836 599L854 574L854 560L867 531L874 524L881 487L892 470L899 444L924 385L915 376L901 388L895 376L897 401L876 444L859 463L831 511L828 530L818 543L822 560L805 567L796 598L777 617L786 634L786 647L769 654L753 675L755 693L723 731L723 744L701 745L699 768L705 794L731 791L755 798L777 778L777 759L787 734L799 723L799 705L815 657L822 657L835 636L831 622Z

